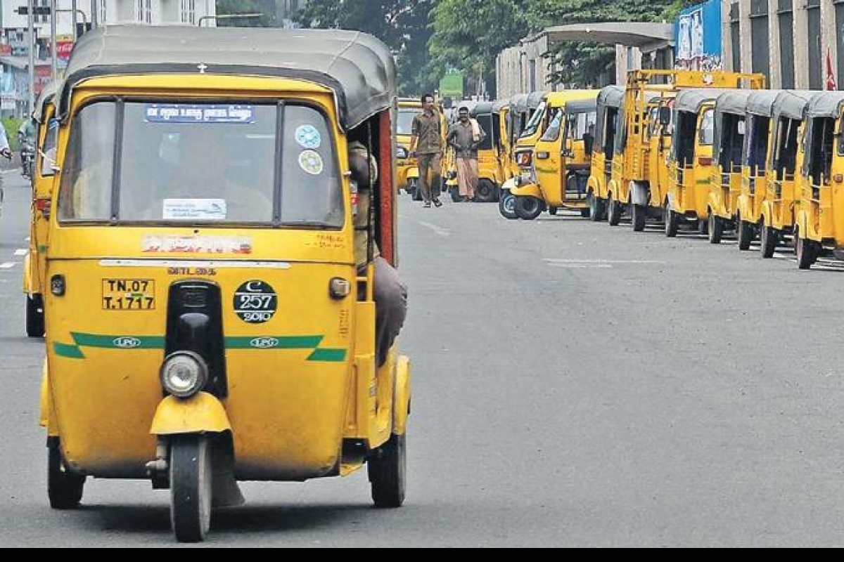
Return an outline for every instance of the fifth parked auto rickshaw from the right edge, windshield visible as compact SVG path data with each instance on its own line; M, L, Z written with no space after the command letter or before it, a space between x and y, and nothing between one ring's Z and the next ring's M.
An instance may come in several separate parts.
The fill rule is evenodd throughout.
M670 155L673 181L665 207L665 234L669 238L677 236L681 219L697 221L700 232L707 233L715 99L724 92L715 88L687 89L674 100Z

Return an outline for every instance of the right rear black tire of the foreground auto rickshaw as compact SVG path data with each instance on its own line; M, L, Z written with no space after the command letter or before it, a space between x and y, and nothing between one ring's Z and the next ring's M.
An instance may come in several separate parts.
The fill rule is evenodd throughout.
M372 452L367 462L372 501L379 509L395 509L404 503L407 482L407 437L392 435Z

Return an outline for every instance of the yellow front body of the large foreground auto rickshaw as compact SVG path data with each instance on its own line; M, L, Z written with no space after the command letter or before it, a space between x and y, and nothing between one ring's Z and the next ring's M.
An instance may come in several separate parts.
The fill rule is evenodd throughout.
M145 99L307 99L337 122L329 90L281 78L98 78L78 86L72 107L115 93ZM69 126L73 118L59 133L59 162ZM348 169L345 137L337 126L333 133L340 169ZM343 195L349 201L345 176ZM55 209L57 192L52 197ZM333 278L353 287L357 279L348 212L344 226L332 231L75 226L59 223L56 214L50 222L46 278L63 276L67 290L61 297L46 295L50 368L42 403L71 467L98 477L145 478L144 464L156 456L150 428L162 433L176 431L180 423L186 430L203 425L180 422L172 401L162 403L158 379L169 287L186 279L211 281L220 289L228 396L218 403L223 412L212 408L200 419L208 421L208 431L230 426L238 479L337 474L344 439L370 447L387 441L397 392L395 368L387 364L376 372L371 290L362 302L354 290L339 300L328 291ZM156 243L172 237L184 244ZM236 244L211 256L192 244L203 238ZM371 270L362 280L370 286ZM153 299L153 307L107 309L102 287L108 280L149 281L145 296ZM234 293L251 280L267 283L279 296L277 311L264 324L247 324L234 310ZM409 390L402 392L404 399Z

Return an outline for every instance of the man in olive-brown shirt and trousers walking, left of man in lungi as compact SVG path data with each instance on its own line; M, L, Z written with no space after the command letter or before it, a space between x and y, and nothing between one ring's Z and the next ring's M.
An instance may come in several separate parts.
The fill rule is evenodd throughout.
M425 206L442 206L440 201L442 118L434 105L434 96L422 96L422 113L414 117L410 155L419 157L419 184Z

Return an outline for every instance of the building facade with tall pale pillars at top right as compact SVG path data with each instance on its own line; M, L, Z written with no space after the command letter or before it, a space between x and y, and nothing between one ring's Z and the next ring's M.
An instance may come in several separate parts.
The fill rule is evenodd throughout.
M844 0L722 0L724 66L771 88L840 89Z

